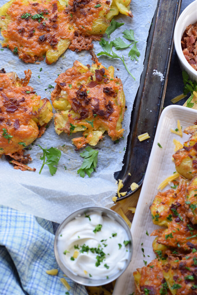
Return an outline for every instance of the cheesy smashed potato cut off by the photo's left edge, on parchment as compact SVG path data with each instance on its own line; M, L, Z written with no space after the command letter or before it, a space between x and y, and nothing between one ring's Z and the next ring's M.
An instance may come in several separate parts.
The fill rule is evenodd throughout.
M30 78L30 70L25 71L24 79L14 72L0 71L0 155L16 160L21 159L24 147L44 132L53 117L50 101L40 99L28 86Z

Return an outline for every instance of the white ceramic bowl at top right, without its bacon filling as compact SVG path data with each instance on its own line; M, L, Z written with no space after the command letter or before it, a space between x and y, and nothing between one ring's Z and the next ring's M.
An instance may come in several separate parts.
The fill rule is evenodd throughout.
M197 21L197 0L193 1L188 5L185 10L181 13L180 17L175 26L174 32L174 42L175 50L179 58L180 67L182 70L185 70L190 79L197 81L197 71L195 71L192 66L186 60L182 48L181 48L181 38L183 33L190 24L194 24Z

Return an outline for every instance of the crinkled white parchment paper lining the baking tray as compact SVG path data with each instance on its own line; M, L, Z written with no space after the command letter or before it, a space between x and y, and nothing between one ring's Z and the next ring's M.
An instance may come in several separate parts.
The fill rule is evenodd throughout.
M0 0L1 5L6 2L6 0ZM30 153L33 158L30 166L35 167L36 172L14 170L4 156L0 159L1 204L54 222L62 222L68 214L80 207L93 205L110 207L112 205L112 197L115 196L117 191L114 172L121 170L123 165L123 149L124 147L126 148L133 101L143 71L146 40L156 5L157 0L132 0L130 6L134 17L131 19L119 14L115 20L125 24L113 32L109 39L109 41L112 41L115 37L122 37L122 32L125 29L134 30L134 36L138 41L137 48L141 53L139 61L131 61L128 58L130 48L122 51L119 50L117 54L120 56L124 55L128 69L136 78L135 81L128 74L121 60L102 56L99 58L105 67L113 65L115 76L117 75L123 82L127 105L127 111L123 120L123 128L125 129L124 139L121 139L118 144L114 144L110 137L105 135L103 140L96 146L99 150L96 172L92 173L91 178L88 178L88 176L81 178L77 175L77 170L83 162L79 155L82 150L74 151L75 146L71 143L72 136L76 137L78 135L75 133L69 137L61 133L58 136L54 130L54 121L52 120L48 124L49 127L44 135L31 146L32 149L28 150L27 148L27 153ZM106 34L104 38L107 40ZM125 42L127 41L125 39ZM95 53L102 51L98 42L94 42L94 51ZM47 65L45 61L42 61L40 64L27 64L19 60L18 55L14 55L7 48L4 48L4 51L0 51L0 68L5 68L6 72L15 71L20 78L24 77L24 70L30 69L32 71L32 78L29 85L34 87L38 95L41 95L41 98L47 97L48 99L51 99L50 90L53 90L49 89L48 85L55 86L56 83L54 81L57 75L72 67L75 60L79 60L84 65L92 63L88 51L75 53L68 49L52 65ZM41 72L40 68L42 68ZM117 71L117 68L119 71ZM40 75L40 78L38 78L38 75ZM45 91L45 89L47 90ZM53 146L61 150L61 159L54 176L51 176L46 165L42 173L39 174L42 165L40 160L42 151L38 144L43 148ZM65 170L64 166L66 166L67 170Z

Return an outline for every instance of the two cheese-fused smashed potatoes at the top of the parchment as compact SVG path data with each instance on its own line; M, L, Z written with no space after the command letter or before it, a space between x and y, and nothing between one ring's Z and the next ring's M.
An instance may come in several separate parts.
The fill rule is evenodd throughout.
M92 49L119 12L132 17L131 0L11 0L0 8L3 47L26 63L55 62L69 47Z

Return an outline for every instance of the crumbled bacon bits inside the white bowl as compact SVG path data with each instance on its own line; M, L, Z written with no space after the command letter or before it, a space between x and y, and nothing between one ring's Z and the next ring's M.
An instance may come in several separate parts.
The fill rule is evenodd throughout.
M181 45L186 60L197 71L197 23L186 28Z

